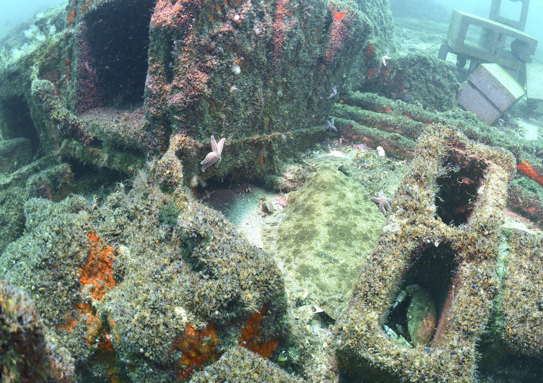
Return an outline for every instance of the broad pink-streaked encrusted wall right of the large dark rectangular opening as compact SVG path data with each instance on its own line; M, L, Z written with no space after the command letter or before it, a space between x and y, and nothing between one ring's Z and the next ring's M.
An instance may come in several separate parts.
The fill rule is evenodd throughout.
M241 165L261 177L292 148L322 138L337 99L327 96L373 34L370 24L349 1L159 1L150 23L148 128L196 141L176 150L187 177L211 135L226 138L229 154L199 177L236 174Z

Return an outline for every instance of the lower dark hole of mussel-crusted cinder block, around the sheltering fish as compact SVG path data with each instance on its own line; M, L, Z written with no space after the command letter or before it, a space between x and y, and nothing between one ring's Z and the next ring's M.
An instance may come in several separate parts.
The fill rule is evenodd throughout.
M413 307L420 304L422 299L425 304L435 307L435 325L443 321L444 318L441 316L452 294L457 270L458 261L449 243L439 243L437 247L431 243L415 250L412 261L403 275L399 290L395 293L395 298L389 307L387 321L384 324L413 344L414 340L408 330L409 322L416 324L418 320ZM413 288L413 286L416 287ZM421 292L424 293L421 294ZM414 302L415 299L417 302ZM426 344L431 341L434 331L435 327L425 331L428 335Z

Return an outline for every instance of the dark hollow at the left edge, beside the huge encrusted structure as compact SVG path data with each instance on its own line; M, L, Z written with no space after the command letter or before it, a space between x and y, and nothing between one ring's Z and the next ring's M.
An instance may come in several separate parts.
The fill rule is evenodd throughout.
M40 135L30 116L30 108L24 96L15 96L0 101L0 127L4 140L19 137L30 140L33 155L40 146Z

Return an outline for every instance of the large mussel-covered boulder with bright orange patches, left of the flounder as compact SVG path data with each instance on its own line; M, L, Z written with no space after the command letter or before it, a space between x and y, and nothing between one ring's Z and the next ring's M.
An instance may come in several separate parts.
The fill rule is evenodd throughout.
M273 260L181 185L160 191L179 180L175 161L101 203L30 199L28 234L0 255L1 277L31 293L82 376L185 379L236 344L269 357L288 332Z

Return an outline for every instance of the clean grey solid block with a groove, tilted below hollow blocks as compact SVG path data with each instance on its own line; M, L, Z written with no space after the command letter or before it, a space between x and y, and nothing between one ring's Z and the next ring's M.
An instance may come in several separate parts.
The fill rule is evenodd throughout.
M462 84L457 100L490 125L524 94L523 87L500 65L481 64Z

